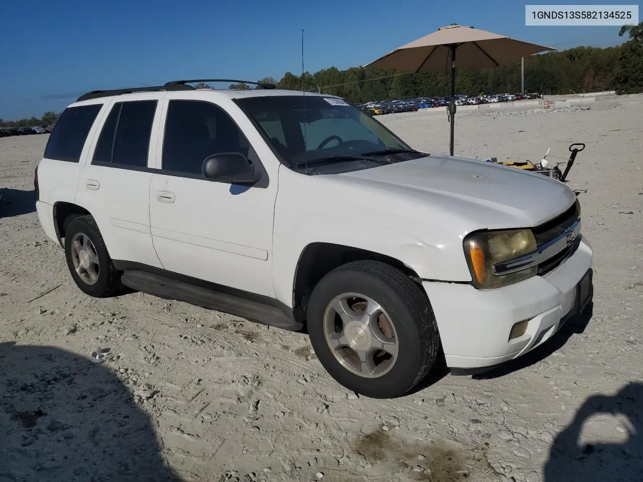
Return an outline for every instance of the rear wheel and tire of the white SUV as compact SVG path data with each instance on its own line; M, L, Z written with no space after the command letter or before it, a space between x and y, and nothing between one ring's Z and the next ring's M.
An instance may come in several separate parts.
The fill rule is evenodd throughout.
M66 224L65 256L71 277L78 288L85 294L95 298L108 298L122 291L122 272L114 268L112 258L109 257L107 247L93 217L77 217L70 222L66 222ZM77 240L81 242L81 245L84 243L87 253L95 254L95 256L91 256L91 259L96 261L90 262L89 267L80 269L80 271L77 270L75 264L78 263L80 256L75 254L77 250L73 249L73 244ZM86 240L91 242L89 247L93 247L93 250L87 247ZM87 261L87 256L82 255L82 257Z

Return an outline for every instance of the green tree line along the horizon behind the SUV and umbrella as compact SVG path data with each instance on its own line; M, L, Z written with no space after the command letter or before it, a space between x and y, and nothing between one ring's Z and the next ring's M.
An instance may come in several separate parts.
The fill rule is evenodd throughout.
M545 95L615 90L617 94L643 92L643 22L624 26L619 35L628 41L617 47L576 47L563 51L525 57L525 90ZM408 74L398 71L350 67L322 69L314 74L286 72L281 80L264 77L259 82L282 89L316 90L337 95L354 103L422 96L448 96L451 72ZM198 84L197 87L210 87ZM494 69L460 69L457 93L516 93L520 91L520 60ZM250 89L251 85L232 84L231 89ZM45 112L41 118L18 121L0 119L0 127L33 127L55 123L59 114Z

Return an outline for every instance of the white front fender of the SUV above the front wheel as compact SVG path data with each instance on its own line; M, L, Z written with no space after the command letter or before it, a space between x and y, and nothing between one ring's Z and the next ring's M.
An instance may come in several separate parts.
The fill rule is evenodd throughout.
M278 179L272 269L282 303L292 306L297 263L316 242L390 256L424 280L471 281L462 249L467 223L457 214L284 166Z

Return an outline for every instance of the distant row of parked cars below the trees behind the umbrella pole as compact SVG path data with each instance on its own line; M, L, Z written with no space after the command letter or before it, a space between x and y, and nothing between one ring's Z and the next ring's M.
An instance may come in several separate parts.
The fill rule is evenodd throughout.
M512 102L514 100L538 99L542 95L538 93L529 94L494 94L467 96L457 94L455 96L456 105L478 105L482 103ZM420 97L417 99L406 100L380 100L377 102L367 102L358 104L358 107L372 116L381 114L392 114L394 112L413 112L418 109L430 109L431 107L444 107L451 102L451 96L448 97Z

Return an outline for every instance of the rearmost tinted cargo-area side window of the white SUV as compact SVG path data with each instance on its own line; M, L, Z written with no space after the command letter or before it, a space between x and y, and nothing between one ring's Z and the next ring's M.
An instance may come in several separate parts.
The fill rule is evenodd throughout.
M44 157L77 163L101 107L102 104L92 104L65 109L51 132Z

